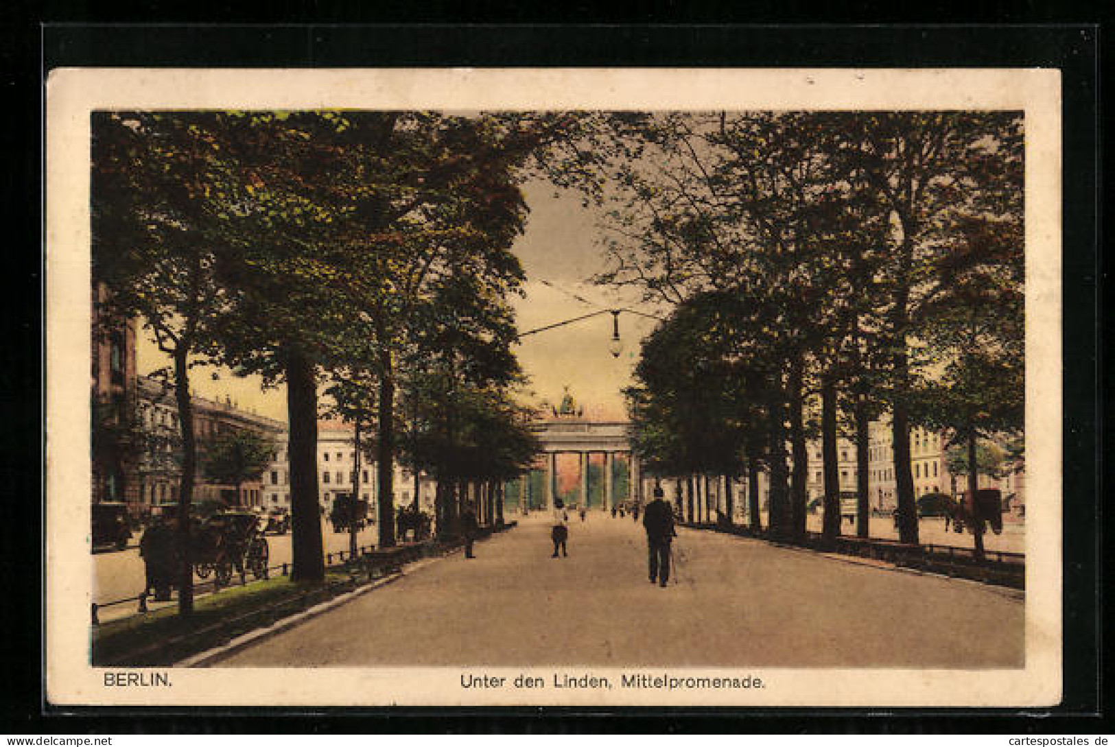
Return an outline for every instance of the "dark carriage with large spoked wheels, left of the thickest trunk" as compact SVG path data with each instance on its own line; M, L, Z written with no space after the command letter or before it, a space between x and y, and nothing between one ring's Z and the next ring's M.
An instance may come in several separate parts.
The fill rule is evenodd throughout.
M241 578L251 571L263 579L268 556L259 516L248 511L213 514L191 533L190 562L200 579L214 574L219 583L227 583L234 567Z

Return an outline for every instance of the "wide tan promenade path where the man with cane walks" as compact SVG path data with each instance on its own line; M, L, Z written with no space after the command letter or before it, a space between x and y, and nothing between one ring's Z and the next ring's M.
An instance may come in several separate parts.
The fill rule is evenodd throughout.
M219 667L716 666L1002 668L1024 662L1021 595L762 541L679 530L679 583L647 579L631 517L571 515L551 559L532 516L241 650Z

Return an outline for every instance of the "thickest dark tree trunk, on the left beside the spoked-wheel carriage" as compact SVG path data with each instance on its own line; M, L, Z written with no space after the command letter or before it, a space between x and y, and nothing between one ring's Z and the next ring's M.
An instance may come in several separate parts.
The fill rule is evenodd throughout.
M318 389L314 366L301 353L287 358L290 419L291 581L326 578L318 499Z

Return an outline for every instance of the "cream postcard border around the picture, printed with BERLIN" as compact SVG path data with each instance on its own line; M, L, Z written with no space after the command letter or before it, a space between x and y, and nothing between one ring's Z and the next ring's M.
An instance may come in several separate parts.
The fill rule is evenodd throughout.
M90 667L89 114L96 109L1012 109L1026 116L1026 667L755 669L762 690L463 690L460 668ZM47 83L46 676L52 705L1053 706L1061 697L1060 74L1045 69L57 69ZM562 670L568 670L563 667ZM634 668L626 668L631 671ZM661 668L658 668L661 669ZM493 668L492 675L550 668ZM671 675L716 670L669 668ZM619 670L578 668L578 673ZM739 675L739 670L723 672Z

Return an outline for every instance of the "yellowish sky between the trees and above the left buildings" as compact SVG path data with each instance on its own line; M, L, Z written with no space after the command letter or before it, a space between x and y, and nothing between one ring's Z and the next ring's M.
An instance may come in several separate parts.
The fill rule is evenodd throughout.
M543 327L591 313L598 308L631 305L636 299L630 293L618 294L614 289L586 282L605 266L595 243L594 222L599 214L583 208L574 195L554 196L553 188L545 184L529 184L524 192L531 214L524 234L514 245L527 279L526 297L513 299L518 329ZM579 302L569 293L599 305ZM655 312L652 307L640 309ZM559 400L562 388L569 386L585 407L586 415L601 419L622 418L620 389L631 382L639 341L655 323L643 317L621 314L620 338L624 348L619 358L608 351L611 314L524 338L517 353L523 370L531 377L531 389L535 392L532 404L541 399ZM140 373L169 365L149 339L143 339L137 347ZM264 391L258 377L239 378L226 369L198 366L191 371L191 386L203 397L223 400L229 396L244 409L287 419L287 390L282 385Z

